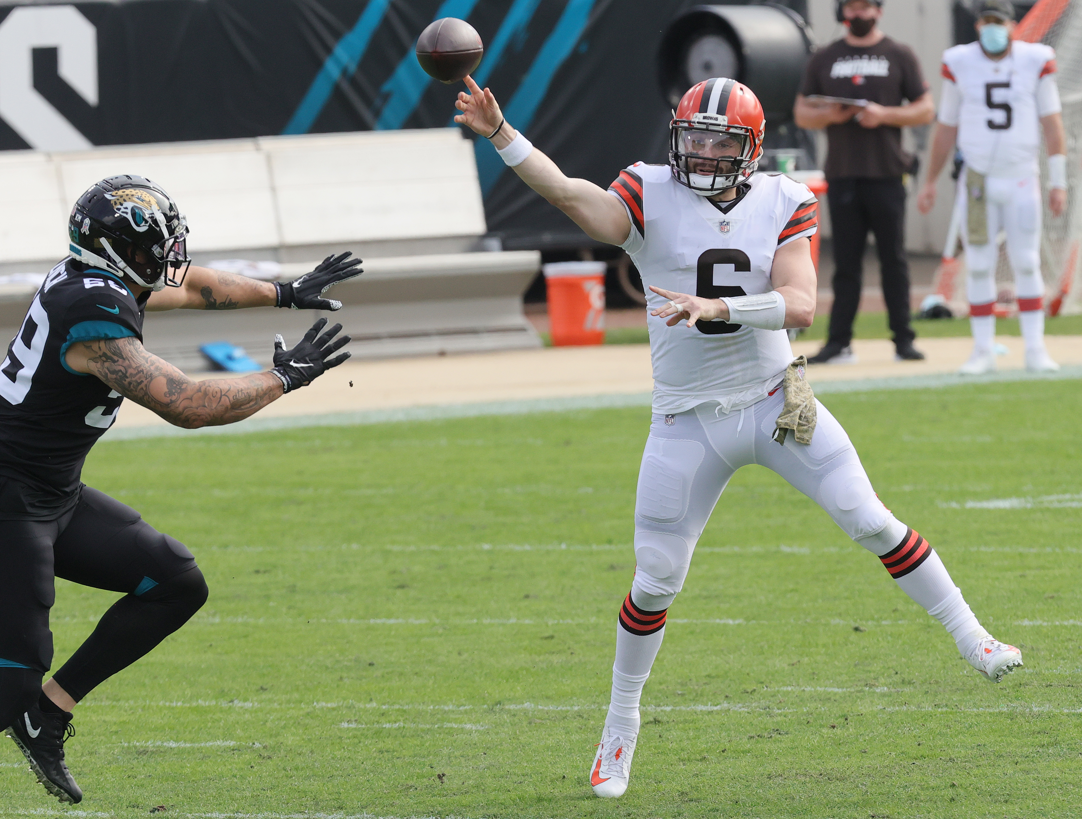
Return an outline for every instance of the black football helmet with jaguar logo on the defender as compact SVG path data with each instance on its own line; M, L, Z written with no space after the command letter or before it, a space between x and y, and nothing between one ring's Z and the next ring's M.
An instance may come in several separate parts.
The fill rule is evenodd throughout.
M71 209L68 250L77 262L130 276L151 290L184 283L188 225L158 185L124 174L94 183Z

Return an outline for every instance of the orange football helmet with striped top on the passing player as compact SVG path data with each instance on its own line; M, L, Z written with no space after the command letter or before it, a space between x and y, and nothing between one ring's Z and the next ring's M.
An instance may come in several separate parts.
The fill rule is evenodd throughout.
M742 82L713 77L690 89L669 123L669 164L682 185L713 196L748 180L763 156L766 117Z

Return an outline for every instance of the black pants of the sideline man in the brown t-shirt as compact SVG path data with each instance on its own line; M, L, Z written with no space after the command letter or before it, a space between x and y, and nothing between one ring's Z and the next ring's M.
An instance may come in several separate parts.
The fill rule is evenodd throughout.
M906 186L900 177L836 179L828 181L827 199L834 233L834 306L827 342L848 346L860 304L868 232L875 236L883 301L894 343L908 344L915 333L909 326L909 261L906 257Z

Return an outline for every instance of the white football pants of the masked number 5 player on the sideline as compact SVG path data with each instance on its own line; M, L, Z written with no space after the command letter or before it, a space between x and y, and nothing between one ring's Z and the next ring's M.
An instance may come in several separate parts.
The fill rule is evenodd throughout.
M965 176L963 175L964 180ZM1007 257L1015 277L1015 295L1020 311L1041 309L1044 295L1041 278L1041 181L1037 176L985 179L988 213L988 243L969 245L966 237L968 198L964 184L958 186L962 236L965 247L966 296L973 315L992 315L995 303L995 264L999 261L997 237L1006 234ZM985 308L987 312L981 312Z

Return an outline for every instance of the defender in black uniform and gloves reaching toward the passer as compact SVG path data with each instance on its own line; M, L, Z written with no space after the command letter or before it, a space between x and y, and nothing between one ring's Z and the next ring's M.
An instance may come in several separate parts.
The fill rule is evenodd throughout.
M192 267L184 216L140 176L91 187L68 234L71 255L49 274L0 364L0 726L45 789L76 803L82 792L64 762L72 708L207 599L183 543L80 481L87 452L124 398L177 426L229 424L349 356L334 355L349 341L335 339L341 325L319 335L324 318L292 349L278 335L268 372L194 381L143 347L144 312L338 309L322 293L361 269L348 253L285 283ZM54 577L124 596L42 686Z

